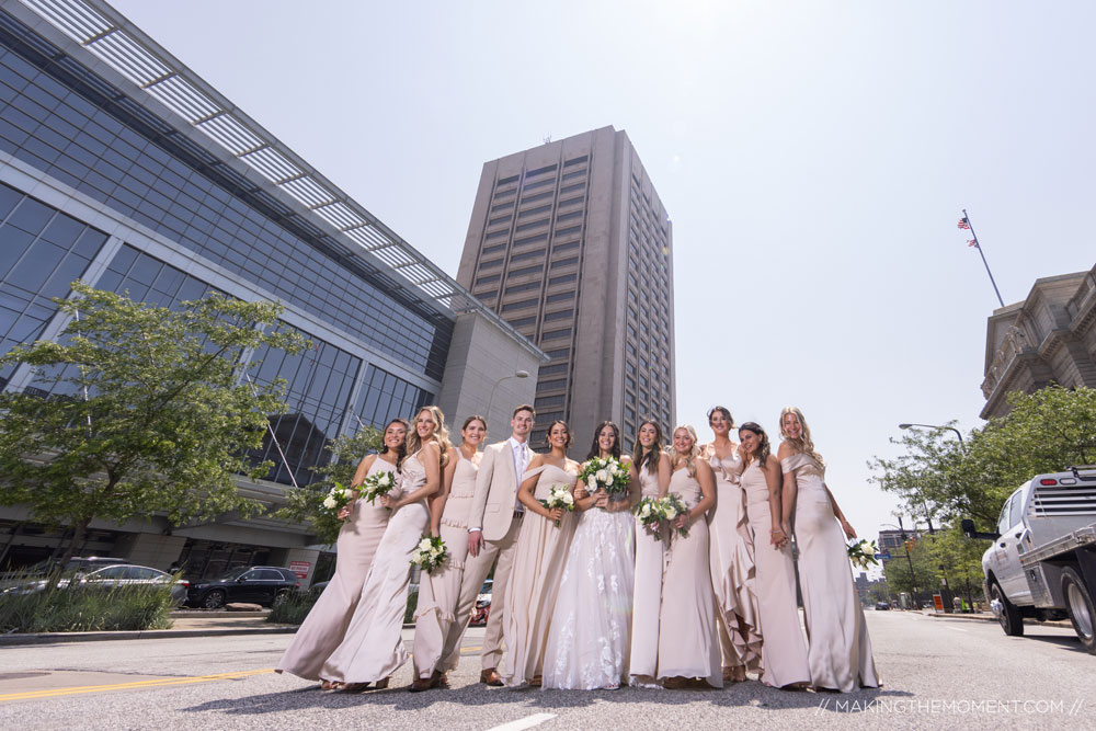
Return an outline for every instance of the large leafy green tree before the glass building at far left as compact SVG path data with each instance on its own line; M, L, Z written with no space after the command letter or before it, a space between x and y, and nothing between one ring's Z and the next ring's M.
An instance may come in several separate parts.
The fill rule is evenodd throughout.
M247 355L299 352L295 332L267 332L281 306L220 295L178 310L72 285L55 299L71 319L58 342L16 346L4 365L35 368L35 392L0 395L0 503L72 528L62 560L95 519L161 513L172 525L258 510L233 483L260 477L246 453L262 445L267 414L285 410L284 384L242 380ZM42 390L37 390L42 389Z

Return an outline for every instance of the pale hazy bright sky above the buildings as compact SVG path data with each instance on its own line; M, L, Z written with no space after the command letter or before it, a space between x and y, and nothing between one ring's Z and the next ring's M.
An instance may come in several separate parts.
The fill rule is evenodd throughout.
M985 318L1087 270L1091 2L116 0L456 273L487 160L626 129L674 222L678 420L807 414L861 535L899 422L980 424Z

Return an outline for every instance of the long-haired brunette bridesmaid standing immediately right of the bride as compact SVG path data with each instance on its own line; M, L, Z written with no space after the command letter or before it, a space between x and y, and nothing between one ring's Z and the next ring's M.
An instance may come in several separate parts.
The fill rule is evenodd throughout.
M647 420L639 425L631 458L631 483L642 498L665 498L670 487L670 456L663 453L662 430ZM659 674L659 610L662 606L662 564L670 528L658 535L636 518L636 587L632 594L630 684L655 686Z

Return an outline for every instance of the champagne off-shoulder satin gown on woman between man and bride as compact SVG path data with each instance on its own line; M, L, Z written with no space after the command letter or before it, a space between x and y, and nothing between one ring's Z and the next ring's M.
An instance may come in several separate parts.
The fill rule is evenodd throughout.
M557 484L566 484L573 493L579 478L578 472L545 465L527 471L522 481L538 473L533 493L537 500L546 500ZM525 511L506 589L507 616L503 630L506 660L502 677L511 687L524 685L544 672L548 631L574 523L574 513L566 511L559 527L533 511Z

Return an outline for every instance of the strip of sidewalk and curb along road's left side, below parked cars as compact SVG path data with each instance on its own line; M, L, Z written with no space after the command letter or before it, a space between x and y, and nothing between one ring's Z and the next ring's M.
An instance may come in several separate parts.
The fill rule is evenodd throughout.
M37 632L0 635L0 647L101 640L155 640L224 635L283 635L296 625L272 625L265 612L172 612L171 629L104 632Z

